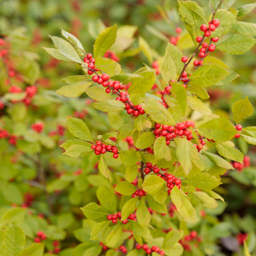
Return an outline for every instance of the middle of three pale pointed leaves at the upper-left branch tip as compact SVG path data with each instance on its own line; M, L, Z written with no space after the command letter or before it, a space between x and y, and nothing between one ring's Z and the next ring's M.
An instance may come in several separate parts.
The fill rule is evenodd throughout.
M58 49L60 54L64 55L69 59L69 61L75 61L79 64L83 63L77 54L76 50L73 48L71 44L69 44L66 40L58 37L58 36L49 36L52 39L53 44Z

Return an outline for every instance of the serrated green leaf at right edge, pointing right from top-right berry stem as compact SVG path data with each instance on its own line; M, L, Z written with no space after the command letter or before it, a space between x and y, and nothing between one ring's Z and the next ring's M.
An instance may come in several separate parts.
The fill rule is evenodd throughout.
M249 51L255 43L256 39L252 36L235 34L218 44L216 49L238 55Z

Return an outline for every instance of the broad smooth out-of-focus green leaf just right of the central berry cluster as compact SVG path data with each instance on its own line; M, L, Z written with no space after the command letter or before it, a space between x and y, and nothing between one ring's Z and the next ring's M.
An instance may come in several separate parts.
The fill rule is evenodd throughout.
M226 118L211 119L198 126L200 135L211 140L231 140L237 133L236 129Z

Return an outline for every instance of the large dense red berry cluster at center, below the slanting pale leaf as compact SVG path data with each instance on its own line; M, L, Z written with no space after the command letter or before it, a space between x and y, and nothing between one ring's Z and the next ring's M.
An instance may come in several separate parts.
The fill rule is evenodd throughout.
M180 136L181 138L186 136L188 140L193 139L191 130L188 130L187 128L194 126L195 123L193 121L186 121L175 124L175 126L162 124L162 129L160 130L161 124L155 124L156 129L154 130L154 134L156 135L156 138L161 136L165 137L166 145L169 145L170 140L176 138L176 136Z

